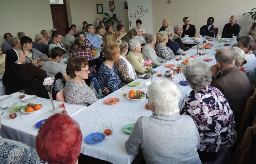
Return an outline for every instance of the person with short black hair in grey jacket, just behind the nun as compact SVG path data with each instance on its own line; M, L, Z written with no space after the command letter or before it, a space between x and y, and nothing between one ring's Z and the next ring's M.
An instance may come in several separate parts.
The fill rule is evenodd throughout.
M38 51L35 48L32 48L32 39L28 36L23 36L20 39L20 44L22 46L22 50L26 55L26 63L37 64L37 61L42 58L43 60L48 60L48 56Z

